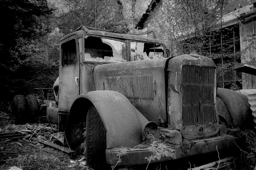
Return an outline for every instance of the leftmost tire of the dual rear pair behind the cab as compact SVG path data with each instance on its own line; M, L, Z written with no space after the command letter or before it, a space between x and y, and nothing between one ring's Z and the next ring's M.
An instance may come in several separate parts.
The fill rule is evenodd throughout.
M16 124L24 122L26 99L23 95L15 95L12 102L12 118Z

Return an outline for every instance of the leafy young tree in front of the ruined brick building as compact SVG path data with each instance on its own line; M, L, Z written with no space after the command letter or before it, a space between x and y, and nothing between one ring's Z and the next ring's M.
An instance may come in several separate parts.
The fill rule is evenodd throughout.
M185 54L183 46L201 49L209 32L220 21L222 0L211 4L203 1L173 0L164 5L164 21L161 29L166 33L169 49L176 54Z

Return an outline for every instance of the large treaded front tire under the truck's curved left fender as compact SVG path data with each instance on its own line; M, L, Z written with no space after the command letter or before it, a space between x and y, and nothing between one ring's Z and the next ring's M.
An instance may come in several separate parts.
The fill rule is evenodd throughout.
M93 169L108 168L106 161L106 129L97 109L92 106L86 116L86 160Z

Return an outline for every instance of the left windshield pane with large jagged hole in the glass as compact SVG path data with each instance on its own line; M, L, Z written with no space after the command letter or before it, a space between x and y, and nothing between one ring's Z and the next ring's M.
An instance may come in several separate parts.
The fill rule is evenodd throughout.
M125 42L99 37L85 37L84 61L91 62L126 62Z

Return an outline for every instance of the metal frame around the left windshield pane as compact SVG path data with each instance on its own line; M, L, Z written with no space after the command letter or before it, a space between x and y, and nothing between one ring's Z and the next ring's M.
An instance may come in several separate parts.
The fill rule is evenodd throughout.
M125 53L126 53L126 56L127 56L127 61L130 61L130 57L129 57L129 53L128 53L128 41L127 40L122 40L122 39L117 39L117 38L112 38L112 37L105 37L105 36L100 36L100 35L94 35L94 34L83 34L82 36L82 56L84 56L84 43L85 43L85 36L90 36L90 37L97 37L97 38L104 38L104 39L108 39L108 40L114 40L114 41L120 41L120 42L124 42L125 43ZM84 57L83 58L83 63L118 63L118 62L102 62L102 61L87 61L87 60L84 60ZM125 62L122 62L122 63L125 63Z

